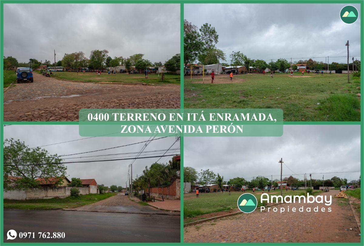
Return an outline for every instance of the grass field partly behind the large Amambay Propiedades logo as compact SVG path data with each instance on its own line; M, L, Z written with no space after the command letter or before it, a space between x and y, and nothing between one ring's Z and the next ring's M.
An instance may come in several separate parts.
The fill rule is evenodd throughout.
M303 195L300 194L304 190L296 191L283 191L283 197L286 195ZM321 191L314 191L313 195ZM254 194L258 200L258 207L264 206L260 201L260 195L262 191L248 191L247 193ZM265 192L266 193L266 192ZM229 195L227 192L223 194L222 192L212 192L212 193L200 193L199 198L196 198L194 193L185 194L183 199L183 217L192 218L202 214L215 213L220 211L229 210L230 207L237 209L237 201L242 192L235 191ZM271 191L272 195L280 195L280 190Z

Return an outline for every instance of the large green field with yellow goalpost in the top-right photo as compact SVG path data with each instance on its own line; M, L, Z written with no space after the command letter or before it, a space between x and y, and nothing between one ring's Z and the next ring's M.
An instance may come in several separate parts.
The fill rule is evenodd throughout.
M360 79L345 74L276 73L184 78L185 108L281 108L285 121L360 121Z

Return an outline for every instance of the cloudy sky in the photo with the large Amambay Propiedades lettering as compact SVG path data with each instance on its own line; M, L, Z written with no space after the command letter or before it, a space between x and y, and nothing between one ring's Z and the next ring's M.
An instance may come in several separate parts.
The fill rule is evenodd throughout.
M283 177L292 175L303 179L304 173L358 171L324 174L359 179L359 125L285 125L281 137L186 137L184 166L197 171L209 168L229 180L236 176L273 175L280 178L283 158ZM290 170L289 170L290 169ZM298 175L294 175L294 173ZM312 174L322 179L323 174Z

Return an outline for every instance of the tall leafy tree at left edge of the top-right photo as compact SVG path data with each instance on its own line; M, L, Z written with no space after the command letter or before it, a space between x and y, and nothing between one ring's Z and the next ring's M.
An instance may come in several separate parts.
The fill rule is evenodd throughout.
M197 28L187 20L184 20L184 59L185 66L194 62L201 53L215 47L219 35L211 24L205 23Z

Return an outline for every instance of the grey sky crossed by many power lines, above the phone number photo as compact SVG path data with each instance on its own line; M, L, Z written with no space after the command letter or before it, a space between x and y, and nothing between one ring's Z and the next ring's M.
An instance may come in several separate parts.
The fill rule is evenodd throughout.
M10 125L4 127L4 139L14 138L24 141L28 147L37 147L47 144L60 143L75 139L82 139L78 134L77 125ZM158 138L158 136L157 136ZM130 143L142 142L148 140L149 137L96 137L90 139L77 140L74 142L55 144L45 146L51 154L75 154L80 152L100 150L103 148L110 148L121 146ZM164 150L152 153L145 153L145 156L163 155L164 152L175 142L175 137L168 137L159 140L151 141L146 147L145 151ZM171 148L168 154L179 154L179 143L177 142ZM92 155L105 155L105 154L119 154L139 152L145 143L135 144L127 147L115 148L112 150L98 151L82 155L74 156L92 156ZM172 150L178 148L178 150ZM126 154L111 156L113 159L127 158L126 156L134 157L136 154ZM144 154L142 154L144 155ZM67 156L74 157L74 156ZM111 158L107 156L107 158ZM142 156L141 156L142 157ZM66 158L66 156L64 157ZM93 157L95 159L96 157ZM103 157L105 158L105 157ZM129 157L130 158L130 157ZM168 162L172 156L165 156L159 162ZM90 158L92 159L92 158ZM145 166L150 166L156 162L158 158L137 159L133 164L133 177L137 174L142 174ZM72 161L75 159L64 159L64 161ZM79 160L79 159L77 159ZM75 161L77 161L75 160ZM88 179L94 178L98 184L105 184L110 186L112 184L121 185L125 187L125 182L128 177L128 165L131 160L119 160L110 162L92 162L92 163L70 163L67 165L68 178L81 178Z

